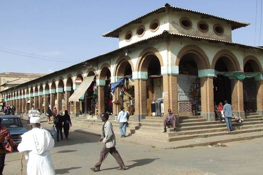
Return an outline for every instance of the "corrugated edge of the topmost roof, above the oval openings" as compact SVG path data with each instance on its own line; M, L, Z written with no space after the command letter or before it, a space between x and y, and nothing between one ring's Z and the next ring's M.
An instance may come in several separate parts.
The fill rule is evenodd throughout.
M117 30L119 30L119 29L121 29L121 28L123 28L124 26L129 25L130 23L132 23L132 22L134 22L134 21L136 21L136 20L138 20L138 19L144 18L144 17L146 17L146 16L148 16L148 15L154 13L154 12L157 12L157 11L159 11L159 10L163 10L163 9L165 9L165 8L167 8L167 7L171 7L171 8L176 9L176 10L181 10L181 11L196 13L196 14L200 14L200 15L205 15L205 16L209 16L209 17L213 17L213 18L216 18L216 19L221 19L221 20L224 20L224 21L228 21L228 22L231 22L231 23L238 24L236 27L232 28L232 30L237 29L237 28L240 28L240 27L246 27L246 26L250 25L250 23L247 23L247 22L235 21L235 20L232 20L232 19L226 19L226 18L223 18L223 17L218 17L218 16L215 16L215 15L210 15L210 14L208 14L208 13L197 12L197 11L189 10L189 9L186 9L186 8L174 7L174 6L171 6L170 4L166 3L165 6L163 6L163 7L161 7L161 8L157 8L157 9L151 11L151 12L146 13L145 15L140 16L140 17L137 17L136 19L134 19L134 20L132 20L132 21L130 21L130 22L128 22L128 23L126 23L126 24L124 24L124 25L122 25L122 26L120 26L120 27L118 27L118 28L116 28L116 29L114 29L114 30L112 30L112 31L110 31L110 32L107 32L107 33L102 34L102 36L103 36L103 37L115 37L115 38L118 38L118 36L116 36L116 35L113 36L113 35L110 35L110 34L113 33L113 32L115 32L115 31L117 31Z

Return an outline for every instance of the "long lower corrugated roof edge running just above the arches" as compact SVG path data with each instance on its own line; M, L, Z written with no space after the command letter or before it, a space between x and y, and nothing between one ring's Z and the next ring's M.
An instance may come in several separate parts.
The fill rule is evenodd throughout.
M207 40L207 41L217 41L217 42L222 42L222 43L229 43L229 44L233 44L233 45L250 47L250 48L259 49L259 50L262 50L262 51L263 51L263 48L262 48L262 47L255 47L255 46L250 46L250 45L245 45L245 44L239 44L239 43L236 43L236 42L216 40L216 39L210 39L210 38L204 38L204 37L195 37L195 36L191 36L191 35L182 35L182 34L167 32L167 31L165 30L163 33L161 33L161 34L159 34L159 35L156 35L156 36L154 36L154 37L150 37L150 38L147 38L147 39L138 41L138 42L134 42L134 43L132 43L132 44L130 44L130 45L127 45L127 46L125 46L125 47L121 47L121 48L115 49L115 50L113 50L113 51L111 51L111 52L108 52L108 53L104 53L104 54L102 54L102 55L99 55L99 56L97 56L97 57L93 57L93 58L87 59L86 61L83 61L83 62L81 62L81 63L77 63L77 64L74 64L74 65L72 65L72 66L70 66L70 67L67 67L67 68L64 68L64 69L55 71L55 72L50 73L50 74L46 74L45 76L36 78L36 79L34 79L34 80L31 80L31 81L36 81L36 80L38 80L38 79L40 79L40 78L45 78L45 77L50 76L50 75L52 75L52 74L55 74L55 73L57 73L57 72L60 72L60 71L66 70L66 69L68 69L68 68L74 67L74 66L76 66L76 65L85 64L87 61L92 61L93 59L97 59L97 58L102 57L102 56L110 55L110 54L112 54L112 53L114 53L114 52L117 52L117 51L120 51L120 50L123 50L123 49L127 49L127 48L129 48L129 47L132 47L133 45L139 44L140 42L145 42L145 41L148 40L148 39L155 39L156 37L160 37L160 36L165 35L165 34L176 35L176 36L187 37L187 38L197 38L197 39L201 39L201 40L203 39L203 40ZM30 83L31 81L26 82L26 83ZM23 84L26 84L26 83L23 83ZM17 86L21 86L21 85L23 85L23 84L19 84L19 85L17 85ZM15 87L17 87L17 86L14 86L14 87L12 87L12 88L15 88ZM9 88L9 89L11 89L11 88ZM5 90L3 90L3 91L5 91ZM0 91L0 93L2 93L3 91Z

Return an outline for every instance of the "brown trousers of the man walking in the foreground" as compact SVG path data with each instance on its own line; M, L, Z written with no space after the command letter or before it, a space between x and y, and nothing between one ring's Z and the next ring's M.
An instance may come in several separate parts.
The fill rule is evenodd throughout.
M95 167L100 167L101 164L103 163L103 161L107 158L109 153L111 153L113 158L115 158L115 160L117 161L117 163L119 164L120 167L125 166L123 163L123 160L122 160L120 154L118 153L118 151L116 150L116 148L115 147L106 148L106 144L104 144L102 150L100 151L99 162L96 163Z

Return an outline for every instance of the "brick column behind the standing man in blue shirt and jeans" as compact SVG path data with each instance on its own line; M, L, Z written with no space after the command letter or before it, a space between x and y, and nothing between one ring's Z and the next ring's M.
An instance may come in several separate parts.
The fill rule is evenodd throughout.
M243 81L231 79L231 102L233 109L233 117L241 117L245 119L244 101L243 101ZM226 99L229 100L229 99Z

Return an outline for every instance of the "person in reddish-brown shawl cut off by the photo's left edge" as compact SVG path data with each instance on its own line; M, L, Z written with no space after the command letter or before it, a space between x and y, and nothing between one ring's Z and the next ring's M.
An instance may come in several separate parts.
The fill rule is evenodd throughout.
M2 126L2 119L0 118L0 175L3 175L6 150L12 153L15 145L17 144L13 142L9 129Z

